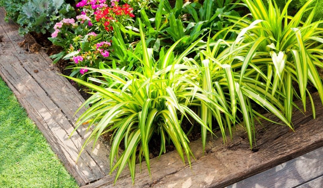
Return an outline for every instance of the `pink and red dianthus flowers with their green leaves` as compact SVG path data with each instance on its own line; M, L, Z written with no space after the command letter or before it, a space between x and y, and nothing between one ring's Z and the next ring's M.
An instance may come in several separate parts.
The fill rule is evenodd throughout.
M69 58L73 64L71 67L83 67L77 69L77 75L81 76L88 71L84 67L98 68L100 62L108 61L112 23L130 25L129 18L134 15L133 8L128 4L119 4L119 0L81 0L76 7L80 9L80 14L75 19L63 19L56 23L52 40L65 43L62 46L67 54L76 52L77 55Z

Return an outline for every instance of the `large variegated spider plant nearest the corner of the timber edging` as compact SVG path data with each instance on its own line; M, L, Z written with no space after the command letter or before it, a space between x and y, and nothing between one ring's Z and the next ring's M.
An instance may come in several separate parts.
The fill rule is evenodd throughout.
M113 81L112 84L108 84L102 81L103 79L89 78L93 82L103 84L104 87L66 76L96 91L81 106L92 104L79 117L75 130L86 123L89 123L89 127L94 126L81 151L91 141L94 140L95 144L100 135L113 132L110 166L111 172L118 168L115 182L126 164L129 164L134 182L136 155L139 155L140 162L145 159L150 172L148 142L153 133L161 137L160 155L166 151L166 143L172 141L183 162L186 155L188 163L191 164L190 157L194 156L181 122L191 116L204 127L203 129L212 132L190 107L200 106L201 103L208 107L217 105L203 95L203 89L199 85L187 79L187 75L195 68L181 64L183 57L199 40L178 56L174 56L172 50L180 40L175 42L166 53L161 50L160 59L156 62L152 57L152 49L146 46L142 28L140 34L143 55L136 56L142 64L140 72L88 68L89 71L99 72L103 78ZM226 110L222 109L222 112L230 116ZM125 149L121 156L118 156L122 140ZM117 161L113 163L115 158Z

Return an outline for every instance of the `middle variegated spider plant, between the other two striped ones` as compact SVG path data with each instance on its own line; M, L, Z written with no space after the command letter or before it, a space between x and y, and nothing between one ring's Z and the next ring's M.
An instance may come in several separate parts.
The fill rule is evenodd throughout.
M245 70L244 75L241 73L243 61L253 57L254 52L248 49L250 47L258 46L266 39L263 37L245 43L243 40L245 38L243 33L247 30L240 31L239 37L234 41L225 41L222 39L219 39L216 42L208 41L206 45L194 49L198 50L204 48L204 50L199 52L199 59L185 59L185 64L187 66L199 68L195 69L194 73L190 74L193 76L191 80L193 82L201 83L200 87L205 90L207 96L218 103L225 111L230 113L230 116L222 114L218 107L210 111L210 108L201 104L202 120L212 129L212 117L214 117L225 141L226 129L228 129L232 138L232 132L234 130L232 126L234 126L236 122L240 122L240 118L237 116L237 112L239 112L242 115L244 121L243 125L252 148L252 141L255 137L254 119L260 122L259 117L261 117L274 122L255 111L252 104L258 104L260 107L277 116L285 125L290 128L292 127L280 112L280 110L284 109L283 104L277 103L278 101L275 98L272 98L265 90L266 88L264 88L264 86L266 86L266 84L257 80L257 72L261 71L258 70L256 66L251 65ZM272 87L269 87L267 90L271 91L272 89ZM273 104L277 104L277 107ZM205 135L206 129L205 127L202 127L203 144Z

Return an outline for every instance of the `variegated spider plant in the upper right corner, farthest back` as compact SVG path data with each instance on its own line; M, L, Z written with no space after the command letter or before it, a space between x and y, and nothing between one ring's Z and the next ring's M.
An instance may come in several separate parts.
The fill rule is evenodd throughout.
M267 96L277 101L274 104L283 106L281 110L288 122L291 122L292 107L295 106L293 100L301 99L306 111L307 96L315 118L314 103L308 86L312 85L318 90L323 103L323 87L317 70L317 67L323 67L320 61L323 59L323 29L318 27L322 21L312 23L315 7L306 21L301 21L305 12L313 9L309 6L314 0L307 1L294 17L287 14L292 0L287 1L282 11L275 1L274 4L269 1L268 9L260 0L242 1L250 9L254 21L232 16L228 16L228 19L236 22L236 32L249 28L243 33L244 42L258 42L257 45L250 46L245 55L239 68L239 83L243 83L243 76L251 74L246 72L248 67L255 67L255 80L264 81L266 85L263 88L258 84L257 88L261 87Z

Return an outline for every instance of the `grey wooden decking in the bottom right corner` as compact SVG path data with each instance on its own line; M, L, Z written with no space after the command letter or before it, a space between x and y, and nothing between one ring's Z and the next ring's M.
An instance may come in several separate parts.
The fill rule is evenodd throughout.
M234 183L227 188L238 187L307 187L320 185L316 177L323 175L323 147L289 160L283 164ZM311 187L313 187L311 186Z

